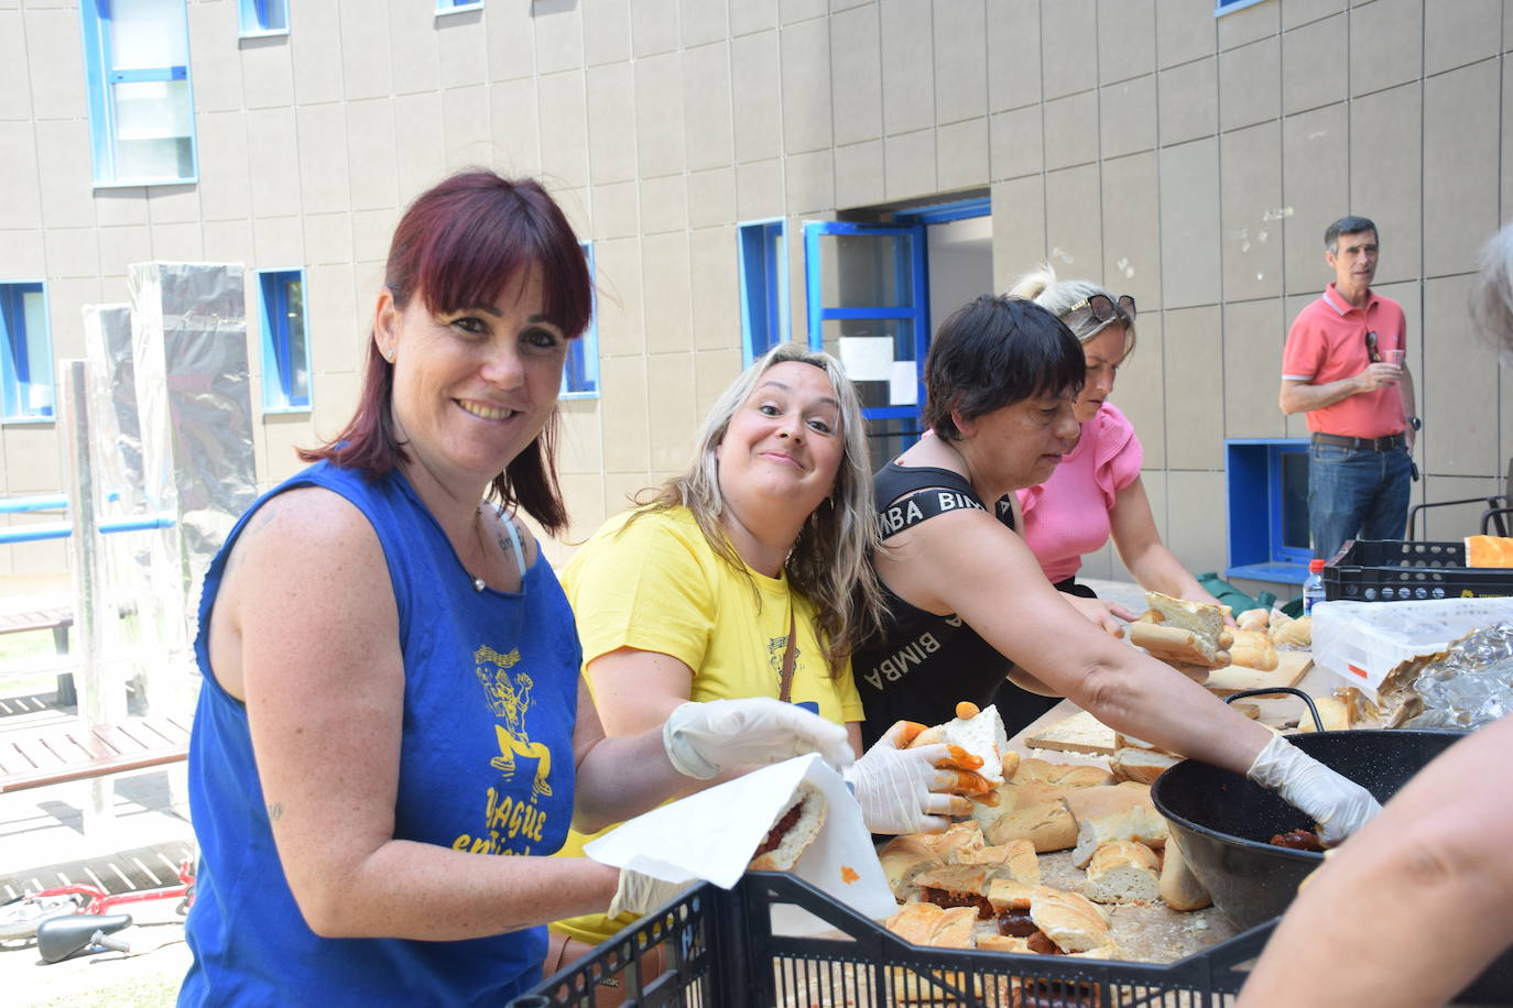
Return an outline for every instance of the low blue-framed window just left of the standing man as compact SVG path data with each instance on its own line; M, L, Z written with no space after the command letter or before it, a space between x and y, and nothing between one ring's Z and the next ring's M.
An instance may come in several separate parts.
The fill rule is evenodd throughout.
M1229 577L1303 583L1309 573L1309 440L1224 443Z

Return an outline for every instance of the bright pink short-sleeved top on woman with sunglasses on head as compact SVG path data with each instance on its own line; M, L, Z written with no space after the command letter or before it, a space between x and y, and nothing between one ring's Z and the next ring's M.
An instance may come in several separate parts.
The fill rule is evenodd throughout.
M1017 491L1024 543L1052 583L1076 574L1082 558L1109 541L1109 509L1118 493L1139 478L1144 456L1133 425L1104 402L1082 425L1077 447L1061 456L1052 478Z

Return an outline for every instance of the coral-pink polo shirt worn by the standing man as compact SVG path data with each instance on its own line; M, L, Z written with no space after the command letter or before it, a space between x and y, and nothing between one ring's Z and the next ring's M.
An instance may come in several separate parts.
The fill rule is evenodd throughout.
M1378 351L1407 349L1407 319L1403 305L1368 290L1362 308L1334 290L1324 289L1292 322L1282 351L1282 376L1310 385L1327 385L1353 378L1366 369L1366 332L1377 334ZM1403 432L1403 394L1396 385L1383 385L1341 399L1333 407L1309 410L1309 431L1342 437L1384 437Z

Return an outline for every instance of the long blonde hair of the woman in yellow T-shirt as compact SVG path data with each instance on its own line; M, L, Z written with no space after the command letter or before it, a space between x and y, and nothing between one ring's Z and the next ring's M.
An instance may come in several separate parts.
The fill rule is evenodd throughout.
M838 676L861 636L878 626L882 614L882 589L868 564L868 555L881 546L881 540L871 496L871 467L867 461L867 429L861 416L861 399L841 370L840 361L797 343L782 343L767 351L714 402L699 431L693 464L687 472L669 479L660 488L642 491L637 494L637 503L642 505L642 514L687 508L693 512L710 547L731 567L746 571L746 564L735 553L720 523L725 497L720 494L716 449L725 440L731 417L750 397L761 376L770 367L787 361L823 370L835 387L835 399L840 402L843 453L835 473L835 487L831 496L809 512L788 559L784 561L790 586L814 603L826 662L831 676ZM755 592L755 582L752 589Z

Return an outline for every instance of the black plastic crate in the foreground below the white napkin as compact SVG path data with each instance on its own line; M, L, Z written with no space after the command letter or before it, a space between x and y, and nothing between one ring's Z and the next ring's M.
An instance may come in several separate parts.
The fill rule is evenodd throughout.
M772 908L784 904L834 931L773 934ZM1021 1003L1020 991L1067 1008L1219 1008L1245 982L1274 925L1168 966L921 949L800 878L750 872L729 892L708 884L690 890L510 1008L593 1008L602 982L623 987L626 1008L1011 1008ZM640 963L657 946L666 951L663 972L643 976Z

